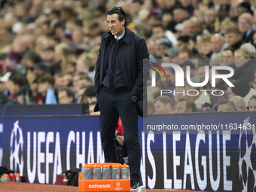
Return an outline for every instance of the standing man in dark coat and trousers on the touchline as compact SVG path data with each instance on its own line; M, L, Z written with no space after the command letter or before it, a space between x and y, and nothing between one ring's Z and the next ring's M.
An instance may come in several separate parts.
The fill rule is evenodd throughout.
M108 163L117 162L114 142L115 127L120 116L130 166L131 188L139 182L141 148L139 143L138 114L143 115L147 100L146 81L149 76L148 49L145 39L126 27L123 8L107 11L110 32L102 36L96 62L95 93L100 111L101 139ZM143 94L144 93L144 94ZM145 102L143 102L143 100Z

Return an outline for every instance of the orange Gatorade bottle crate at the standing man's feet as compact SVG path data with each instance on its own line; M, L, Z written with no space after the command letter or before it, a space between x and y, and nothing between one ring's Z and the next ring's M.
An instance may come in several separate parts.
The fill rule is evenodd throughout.
M93 180L93 166L110 166L111 168L119 167L119 168L129 168L126 164L121 165L120 163L91 163L82 166L82 168L90 168L91 169L91 179L84 180L83 172L79 172L78 175L78 190L79 192L113 192L113 191L121 191L121 192L130 192L130 173L128 179L98 179Z

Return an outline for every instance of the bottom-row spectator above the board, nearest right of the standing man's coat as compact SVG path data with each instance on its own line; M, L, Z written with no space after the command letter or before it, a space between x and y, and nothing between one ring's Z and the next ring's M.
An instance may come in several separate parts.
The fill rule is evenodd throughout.
M173 102L169 96L159 96L154 100L154 109L156 114L174 114Z

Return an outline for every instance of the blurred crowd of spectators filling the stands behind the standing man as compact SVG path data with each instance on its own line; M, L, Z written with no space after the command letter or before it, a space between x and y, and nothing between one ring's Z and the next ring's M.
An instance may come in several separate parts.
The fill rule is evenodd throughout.
M149 114L255 111L255 5L241 0L0 0L0 103L88 103L95 114L95 64L101 37L109 31L106 11L116 6L126 11L128 27L145 38L151 62L170 60L184 70L184 87L175 86L172 68L165 68L163 78L157 75L154 87L148 79ZM221 78L212 84L212 66L233 68L229 80L235 87ZM206 72L209 81L203 87L186 84L188 78L204 82ZM160 90L169 93L160 96Z

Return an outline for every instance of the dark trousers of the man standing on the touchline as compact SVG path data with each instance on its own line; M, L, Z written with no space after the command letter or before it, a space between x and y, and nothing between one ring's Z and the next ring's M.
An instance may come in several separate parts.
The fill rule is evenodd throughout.
M136 103L130 93L111 94L100 90L97 94L99 103L99 126L106 163L117 163L115 129L120 116L123 123L123 136L126 143L131 182L139 181L141 146L139 143L138 115Z

